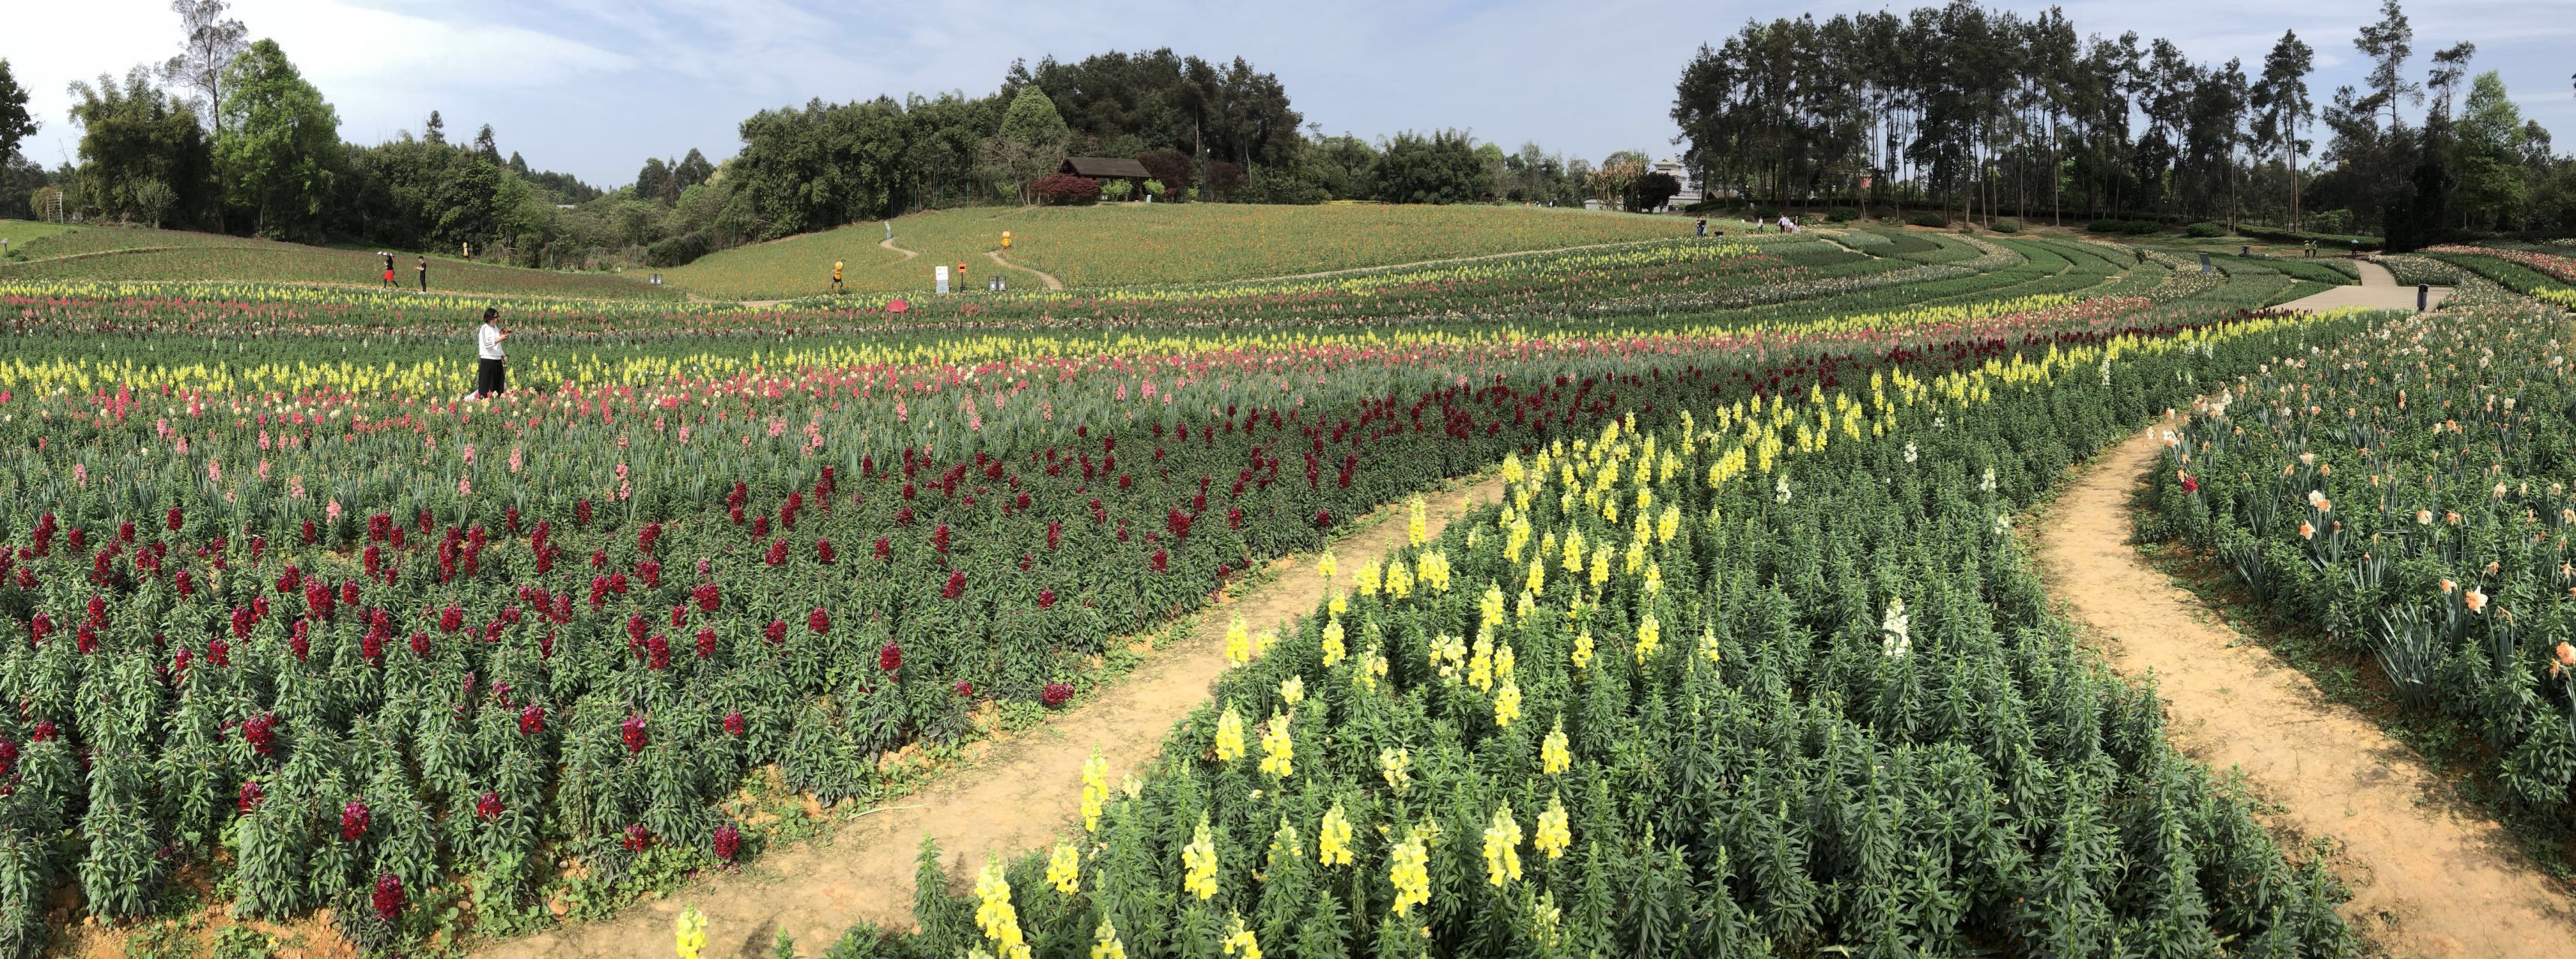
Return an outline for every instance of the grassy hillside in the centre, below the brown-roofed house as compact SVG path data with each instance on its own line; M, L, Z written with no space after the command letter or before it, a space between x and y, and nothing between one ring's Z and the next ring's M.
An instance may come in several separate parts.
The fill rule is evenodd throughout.
M894 221L894 244L878 247L884 224L726 249L665 280L711 298L783 298L822 293L832 260L848 265L853 291L930 291L933 265L966 262L966 283L992 278L984 257L1012 234L1010 262L1046 270L1069 288L1216 283L1396 262L1558 249L1605 242L1664 239L1690 231L1687 219L1597 213L1528 206L1252 206L1252 203L1100 203L1100 206L974 206ZM1028 273L1002 273L1036 285Z

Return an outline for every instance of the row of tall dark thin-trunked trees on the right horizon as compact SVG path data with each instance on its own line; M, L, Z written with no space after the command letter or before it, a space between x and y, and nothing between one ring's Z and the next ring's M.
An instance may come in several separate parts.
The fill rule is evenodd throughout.
M2476 44L2416 80L2414 28L2383 0L2354 49L2365 82L2318 103L2295 31L2262 64L2208 64L2164 39L2079 36L2058 8L1801 15L1700 46L1672 118L1692 170L1767 203L2262 221L2403 247L2576 231L2576 159L2496 72L2470 80Z

